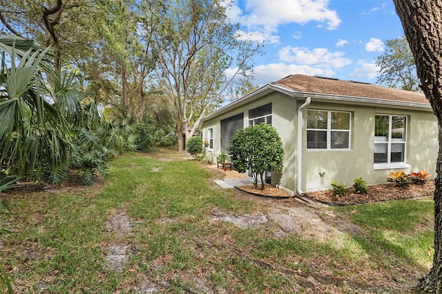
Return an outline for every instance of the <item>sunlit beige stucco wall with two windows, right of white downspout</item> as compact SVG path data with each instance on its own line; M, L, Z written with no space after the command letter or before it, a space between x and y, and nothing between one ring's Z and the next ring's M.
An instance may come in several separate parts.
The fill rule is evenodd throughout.
M435 175L438 150L436 118L429 111L410 111L368 106L311 103L311 110L347 111L352 114L348 150L307 150L307 110L302 128L302 183L304 192L332 187L332 182L351 186L362 177L367 184L385 183L392 171L427 170ZM374 117L376 114L407 117L405 163L409 168L374 169ZM320 177L319 171L325 170ZM293 188L293 187L288 187Z

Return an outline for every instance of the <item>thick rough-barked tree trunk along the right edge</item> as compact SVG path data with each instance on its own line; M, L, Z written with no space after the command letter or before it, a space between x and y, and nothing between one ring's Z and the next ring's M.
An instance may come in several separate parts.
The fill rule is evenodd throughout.
M434 257L421 290L442 293L442 0L393 0L416 61L421 89L439 126L439 153L434 181Z

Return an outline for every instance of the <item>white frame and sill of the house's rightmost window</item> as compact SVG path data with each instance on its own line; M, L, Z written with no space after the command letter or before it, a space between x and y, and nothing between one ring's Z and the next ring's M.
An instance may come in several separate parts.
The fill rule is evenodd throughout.
M410 168L410 164L407 164L407 130L408 130L408 117L406 115L386 115L381 113L376 113L374 117L376 116L386 116L388 117L388 141L374 141L374 144L376 143L383 143L387 144L387 160L388 162L380 162L380 163L373 163L374 170L390 170L390 169L400 169L400 168ZM391 160L391 151L392 151L392 117L405 117L405 140L400 143L403 143L403 162L390 162ZM374 136L376 137L376 136ZM399 142L396 142L399 143ZM374 147L374 146L373 146ZM374 150L373 150L374 151Z

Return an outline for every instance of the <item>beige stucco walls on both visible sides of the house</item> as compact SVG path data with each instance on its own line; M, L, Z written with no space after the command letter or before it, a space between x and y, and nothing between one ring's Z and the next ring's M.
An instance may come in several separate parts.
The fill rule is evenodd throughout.
M297 110L305 99L295 99L281 92L251 101L202 124L203 140L208 139L208 130L213 128L213 150L206 154L216 161L220 150L220 121L233 115L244 114L244 128L249 126L249 110L268 103L272 104L272 126L278 130L284 146L283 168L280 173L272 173L272 184L279 184L296 191ZM307 150L307 110L332 110L351 113L349 149L347 150ZM405 162L409 168L374 169L374 123L375 115L403 115L407 117ZM438 151L438 129L436 118L430 111L405 110L374 106L354 106L323 103L312 99L302 112L302 175L301 189L304 192L332 188L332 182L351 186L353 180L362 177L367 184L385 183L392 171L405 173L427 170L435 175ZM319 171L325 171L323 177Z

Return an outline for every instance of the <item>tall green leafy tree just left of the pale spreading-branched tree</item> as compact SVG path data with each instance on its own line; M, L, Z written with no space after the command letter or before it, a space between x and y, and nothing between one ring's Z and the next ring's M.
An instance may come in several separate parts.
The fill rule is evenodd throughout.
M155 68L152 35L160 21L145 12L160 3L126 0L104 4L108 17L97 21L101 38L96 58L81 65L102 103L131 122L142 121L158 92L149 85L148 75Z

